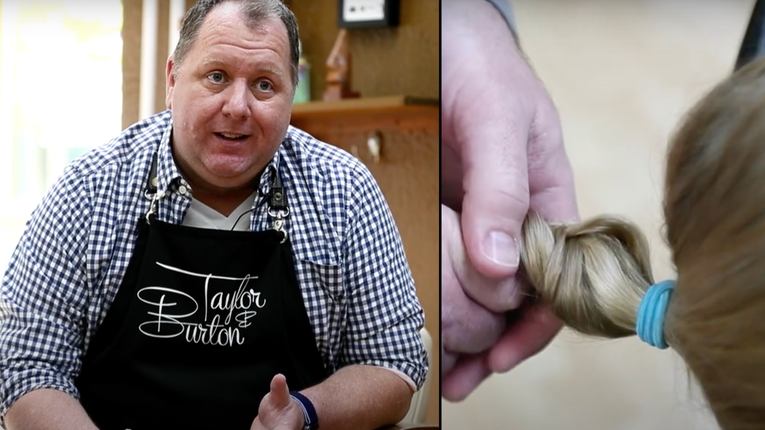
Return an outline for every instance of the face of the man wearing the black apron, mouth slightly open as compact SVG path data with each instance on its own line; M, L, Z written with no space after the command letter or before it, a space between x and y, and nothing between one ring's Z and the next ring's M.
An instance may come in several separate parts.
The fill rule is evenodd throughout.
M290 70L282 21L249 28L236 2L210 11L180 66L168 60L173 151L192 187L245 187L268 164L289 125Z

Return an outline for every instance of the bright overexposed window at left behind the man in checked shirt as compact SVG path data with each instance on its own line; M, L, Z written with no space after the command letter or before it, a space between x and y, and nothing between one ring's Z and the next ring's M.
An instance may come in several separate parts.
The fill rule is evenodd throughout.
M122 2L0 0L0 273L63 168L122 128Z

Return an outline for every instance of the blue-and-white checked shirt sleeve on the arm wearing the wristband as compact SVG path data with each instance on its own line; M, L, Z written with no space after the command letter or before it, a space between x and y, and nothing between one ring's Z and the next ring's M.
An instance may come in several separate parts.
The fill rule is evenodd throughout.
M420 389L428 357L420 330L425 324L399 230L366 167L358 169L347 208L345 254L348 311L340 365L382 366Z

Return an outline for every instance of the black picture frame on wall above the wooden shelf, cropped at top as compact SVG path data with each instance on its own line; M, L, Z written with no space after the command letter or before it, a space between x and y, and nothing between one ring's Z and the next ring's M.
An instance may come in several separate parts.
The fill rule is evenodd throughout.
M399 26L399 0L337 0L340 28Z

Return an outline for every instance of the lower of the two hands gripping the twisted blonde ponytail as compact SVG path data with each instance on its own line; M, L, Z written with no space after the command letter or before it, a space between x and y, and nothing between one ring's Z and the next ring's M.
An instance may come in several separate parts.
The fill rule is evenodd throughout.
M508 285L509 284L509 285ZM527 298L513 279L488 279L467 260L459 215L441 205L441 396L457 401L469 395L492 372L509 370L541 350L552 336L545 327L559 327L544 305ZM506 315L477 303L485 292L500 297L508 308L526 306L506 327Z

